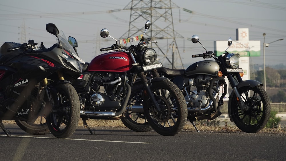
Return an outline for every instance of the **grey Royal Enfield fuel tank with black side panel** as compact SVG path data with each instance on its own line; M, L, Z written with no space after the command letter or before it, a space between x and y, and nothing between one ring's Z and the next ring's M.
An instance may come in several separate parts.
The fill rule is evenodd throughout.
M216 75L216 72L219 71L219 64L213 60L204 60L193 63L186 69L186 75L194 74L209 74Z

